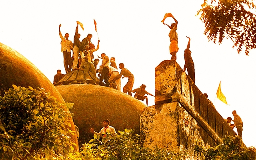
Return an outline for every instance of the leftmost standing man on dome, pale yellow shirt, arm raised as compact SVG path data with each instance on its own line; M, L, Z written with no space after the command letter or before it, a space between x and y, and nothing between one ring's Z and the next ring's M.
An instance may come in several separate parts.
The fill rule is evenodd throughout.
M73 49L73 43L72 41L68 40L68 33L65 34L65 37L62 36L60 32L60 27L59 26L59 35L61 38L61 52L63 52L63 58L64 58L64 67L66 73L70 72L72 69L72 57L71 57L71 52L70 50Z

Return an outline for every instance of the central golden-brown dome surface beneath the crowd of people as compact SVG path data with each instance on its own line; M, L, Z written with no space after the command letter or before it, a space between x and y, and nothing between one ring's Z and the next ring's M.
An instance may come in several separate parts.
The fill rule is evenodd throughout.
M90 128L100 132L103 119L109 119L116 132L133 128L140 134L140 115L146 107L141 101L99 85L70 84L56 88L66 102L75 104L71 112L80 130L79 145L93 138Z

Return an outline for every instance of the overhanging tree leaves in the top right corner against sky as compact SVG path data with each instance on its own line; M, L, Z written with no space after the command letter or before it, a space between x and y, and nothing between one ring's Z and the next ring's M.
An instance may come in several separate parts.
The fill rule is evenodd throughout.
M245 53L256 48L256 15L253 0L204 0L200 20L205 24L204 34L208 40L222 43L224 38L230 38L238 47L240 53L245 47Z

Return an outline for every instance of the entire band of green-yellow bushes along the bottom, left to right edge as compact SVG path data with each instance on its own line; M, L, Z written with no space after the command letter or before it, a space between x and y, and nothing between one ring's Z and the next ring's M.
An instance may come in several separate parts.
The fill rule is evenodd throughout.
M83 144L74 152L70 140L73 131L64 110L74 104L60 104L44 89L14 89L0 96L0 159L3 160L255 160L256 148L246 147L238 136L227 136L216 147L195 142L194 148L167 151L144 147L134 130L118 131L117 136L106 135Z

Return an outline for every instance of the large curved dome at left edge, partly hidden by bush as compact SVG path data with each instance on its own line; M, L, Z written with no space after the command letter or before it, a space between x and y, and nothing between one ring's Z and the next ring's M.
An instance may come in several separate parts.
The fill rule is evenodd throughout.
M21 87L44 88L60 103L65 103L58 90L35 65L14 49L0 43L0 94L12 88L13 84ZM75 130L73 121L71 128ZM76 136L72 137L72 141L77 143Z

